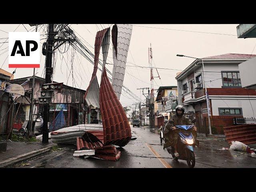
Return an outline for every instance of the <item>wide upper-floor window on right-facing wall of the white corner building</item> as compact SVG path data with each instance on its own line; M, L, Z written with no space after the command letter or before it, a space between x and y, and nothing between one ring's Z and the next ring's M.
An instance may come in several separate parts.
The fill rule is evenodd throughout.
M241 79L239 72L222 72L222 83L224 87L240 87Z

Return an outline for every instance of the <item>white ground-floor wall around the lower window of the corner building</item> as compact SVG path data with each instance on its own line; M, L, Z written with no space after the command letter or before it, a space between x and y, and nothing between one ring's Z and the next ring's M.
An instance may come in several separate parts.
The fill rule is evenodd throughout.
M254 109L254 116L256 116L256 98L247 99L211 99L212 102L212 115L218 116L219 107L227 108L242 108L243 116L246 118L253 117L252 108ZM252 106L251 106L251 104Z

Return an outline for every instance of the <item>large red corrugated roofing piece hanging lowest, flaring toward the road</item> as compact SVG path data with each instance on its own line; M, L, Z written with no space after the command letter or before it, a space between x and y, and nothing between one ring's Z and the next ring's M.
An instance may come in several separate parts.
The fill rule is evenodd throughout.
M100 83L100 112L102 116L104 145L125 146L132 137L124 109L110 83L106 68Z

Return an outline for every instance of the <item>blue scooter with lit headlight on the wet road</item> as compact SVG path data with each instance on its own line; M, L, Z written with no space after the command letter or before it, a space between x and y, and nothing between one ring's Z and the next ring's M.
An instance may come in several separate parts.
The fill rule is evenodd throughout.
M193 120L192 123L196 122ZM172 120L170 123L174 123ZM174 147L166 148L174 160L186 160L187 164L190 168L193 168L196 164L195 155L194 155L194 146L196 145L196 140L194 139L191 130L193 125L176 125L176 129L185 130L183 132L179 132L179 139L177 142L177 151L179 156L176 157L174 155Z

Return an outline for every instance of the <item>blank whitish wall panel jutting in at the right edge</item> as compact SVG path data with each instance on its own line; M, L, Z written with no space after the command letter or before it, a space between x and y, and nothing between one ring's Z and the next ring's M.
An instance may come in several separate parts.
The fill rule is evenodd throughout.
M242 87L256 84L256 57L239 64Z

